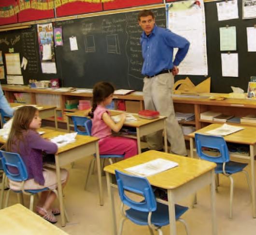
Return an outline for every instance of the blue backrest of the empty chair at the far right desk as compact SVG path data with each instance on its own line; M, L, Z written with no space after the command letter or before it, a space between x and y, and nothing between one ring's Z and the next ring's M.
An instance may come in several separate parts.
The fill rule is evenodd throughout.
M216 163L223 163L229 161L228 146L222 136L203 135L195 133L195 142L197 147L197 154L200 158ZM208 155L206 153L203 153L202 147L217 149L220 154L217 157Z

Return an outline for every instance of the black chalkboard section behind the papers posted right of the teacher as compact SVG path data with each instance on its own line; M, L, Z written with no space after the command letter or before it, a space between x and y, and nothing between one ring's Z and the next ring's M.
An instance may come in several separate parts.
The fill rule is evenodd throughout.
M242 19L242 0L238 0L238 19L218 21L216 1L205 2L204 7L208 56L208 76L206 78L211 77L211 92L229 93L232 92L231 86L241 87L247 92L250 77L256 76L256 52L247 50L246 27L254 27L256 19ZM230 53L238 53L238 78L222 77L221 53L227 52L220 51L219 28L227 25L236 26L237 51ZM206 79L204 76L179 75L175 77L175 80L185 77L189 77L195 85Z

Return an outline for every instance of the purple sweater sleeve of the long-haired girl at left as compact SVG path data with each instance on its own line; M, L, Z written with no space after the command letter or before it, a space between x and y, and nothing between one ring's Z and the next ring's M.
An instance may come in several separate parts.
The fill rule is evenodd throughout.
M47 154L55 154L58 151L57 144L43 139L36 131L29 131L29 146L33 149L39 149Z

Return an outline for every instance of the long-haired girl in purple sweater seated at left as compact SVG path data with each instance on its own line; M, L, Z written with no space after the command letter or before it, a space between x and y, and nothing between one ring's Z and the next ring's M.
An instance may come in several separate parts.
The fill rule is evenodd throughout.
M56 171L43 168L43 152L55 154L58 148L56 144L43 139L36 131L41 127L41 120L38 109L33 106L17 109L6 144L6 150L20 154L26 165L28 180L24 183L24 189L57 188ZM61 169L60 173L64 187L68 179L68 171ZM20 190L21 183L10 180L10 188ZM56 194L53 191L44 191L36 207L38 214L52 223L57 222L55 215L60 213L59 209L51 207L55 198Z

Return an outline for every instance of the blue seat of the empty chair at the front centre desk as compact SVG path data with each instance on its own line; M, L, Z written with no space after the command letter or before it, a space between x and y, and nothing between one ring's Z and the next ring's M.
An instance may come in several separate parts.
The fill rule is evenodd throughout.
M178 220L187 211L187 207L175 204L175 219ZM129 220L139 225L148 225L148 212L142 212L134 209L126 210L126 215ZM151 222L159 227L169 224L168 206L157 202L156 211L152 212Z

